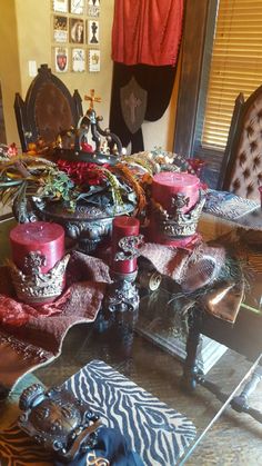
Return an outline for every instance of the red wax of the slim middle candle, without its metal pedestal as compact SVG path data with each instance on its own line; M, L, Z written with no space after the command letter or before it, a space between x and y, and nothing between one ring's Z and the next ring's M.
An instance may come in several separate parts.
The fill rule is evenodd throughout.
M118 274L131 274L137 270L137 258L114 260L115 254L122 251L119 247L120 239L139 235L140 221L134 217L120 216L113 219L112 231L112 271Z

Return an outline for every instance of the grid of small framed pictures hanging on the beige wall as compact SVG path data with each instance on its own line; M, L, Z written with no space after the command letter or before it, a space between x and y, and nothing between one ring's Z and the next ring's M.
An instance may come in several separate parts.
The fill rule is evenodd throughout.
M100 71L100 0L51 0L56 72Z

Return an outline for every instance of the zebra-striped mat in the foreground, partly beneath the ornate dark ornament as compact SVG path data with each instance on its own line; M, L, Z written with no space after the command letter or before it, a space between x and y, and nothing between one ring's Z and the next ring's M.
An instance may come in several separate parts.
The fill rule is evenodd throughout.
M90 404L104 426L119 429L145 466L178 464L196 435L190 419L101 360L89 363L64 386ZM52 465L14 424L0 433L0 452L1 466Z

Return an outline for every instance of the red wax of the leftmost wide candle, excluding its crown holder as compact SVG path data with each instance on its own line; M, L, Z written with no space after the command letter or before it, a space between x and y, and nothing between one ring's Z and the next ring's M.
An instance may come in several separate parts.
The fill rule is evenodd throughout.
M64 255L64 230L58 224L34 221L20 224L10 231L11 254L16 266L28 274L24 258L29 252L39 251L46 257L42 274L49 271Z

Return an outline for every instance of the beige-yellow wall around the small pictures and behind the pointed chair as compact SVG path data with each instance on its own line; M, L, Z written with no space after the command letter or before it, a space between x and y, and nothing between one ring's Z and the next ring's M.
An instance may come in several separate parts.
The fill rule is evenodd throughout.
M3 95L8 143L19 145L13 112L14 93L22 98L32 80L28 71L28 61L34 60L39 67L48 63L52 71L51 41L51 0L0 0L0 80ZM102 97L97 105L97 112L103 116L108 127L110 95L112 83L111 28L113 18L113 0L101 0L100 16L100 50L101 71L99 73L59 73L71 92L78 89L81 97L95 89ZM177 79L178 81L178 79ZM147 150L154 146L172 150L173 128L177 101L177 86L170 107L164 116L155 122L143 123L144 146ZM87 109L83 102L83 109Z

